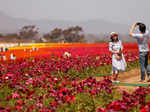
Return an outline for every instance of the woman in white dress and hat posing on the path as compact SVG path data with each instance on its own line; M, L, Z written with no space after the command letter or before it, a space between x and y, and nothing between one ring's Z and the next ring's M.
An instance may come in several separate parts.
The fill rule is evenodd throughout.
M125 71L127 66L124 55L122 53L123 46L121 40L118 38L118 34L112 32L110 34L111 42L109 42L109 51L112 53L112 77L113 82L119 82L119 71Z

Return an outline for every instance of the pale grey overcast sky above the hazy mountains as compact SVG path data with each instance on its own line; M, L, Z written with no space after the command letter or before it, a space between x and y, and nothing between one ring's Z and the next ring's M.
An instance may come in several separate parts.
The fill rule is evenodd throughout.
M31 20L103 19L124 24L147 23L150 20L150 0L0 0L0 11Z

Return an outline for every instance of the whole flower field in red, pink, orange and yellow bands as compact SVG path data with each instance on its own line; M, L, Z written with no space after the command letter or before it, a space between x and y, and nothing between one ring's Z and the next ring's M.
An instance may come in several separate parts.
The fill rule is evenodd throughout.
M139 66L137 51L124 44L127 71ZM1 54L7 60L0 63L0 112L150 112L149 87L128 93L104 76L111 73L108 44L21 46Z

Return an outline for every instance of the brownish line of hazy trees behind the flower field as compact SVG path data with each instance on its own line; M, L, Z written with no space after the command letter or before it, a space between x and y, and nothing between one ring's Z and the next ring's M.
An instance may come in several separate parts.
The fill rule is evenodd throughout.
M35 25L27 25L23 26L18 33L0 33L0 39L18 42L86 42L83 29L80 26L71 26L67 29L55 28L40 36L39 28Z

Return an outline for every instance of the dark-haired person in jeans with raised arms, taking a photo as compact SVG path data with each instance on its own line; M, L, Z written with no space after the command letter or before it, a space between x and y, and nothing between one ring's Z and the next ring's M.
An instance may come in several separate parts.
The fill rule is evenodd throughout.
M138 26L139 33L134 33L135 28ZM147 72L148 80L150 82L150 67L148 66L148 56L149 56L149 31L146 29L146 25L143 23L133 24L129 35L137 40L139 48L139 60L140 60L140 70L141 70L141 80L140 82L145 82L145 70Z

